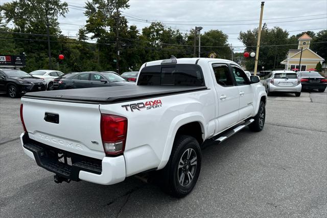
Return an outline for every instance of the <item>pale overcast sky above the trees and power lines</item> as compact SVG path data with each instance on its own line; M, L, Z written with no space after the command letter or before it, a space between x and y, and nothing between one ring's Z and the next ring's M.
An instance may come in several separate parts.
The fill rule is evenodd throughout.
M65 0L65 2L69 4L69 12L66 17L59 18L60 28L63 35L76 36L79 25L86 24L86 17L83 14L86 1ZM151 21L162 21L166 26L179 29L183 33L195 26L202 26L201 33L208 30L221 30L228 35L229 44L243 46L243 43L238 40L239 33L258 28L261 2L256 0L130 0L130 7L123 10L123 15L127 17L129 24L136 25L140 32L142 28L150 25ZM263 22L267 23L268 28L279 26L287 31L294 31L290 32L290 35L306 30L326 29L327 1L266 0Z

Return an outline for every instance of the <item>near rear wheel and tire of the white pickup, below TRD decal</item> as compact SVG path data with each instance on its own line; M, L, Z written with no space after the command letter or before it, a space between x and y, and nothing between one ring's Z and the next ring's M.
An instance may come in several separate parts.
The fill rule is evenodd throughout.
M162 188L177 198L190 194L201 170L201 148L189 135L177 135L169 161L162 169Z

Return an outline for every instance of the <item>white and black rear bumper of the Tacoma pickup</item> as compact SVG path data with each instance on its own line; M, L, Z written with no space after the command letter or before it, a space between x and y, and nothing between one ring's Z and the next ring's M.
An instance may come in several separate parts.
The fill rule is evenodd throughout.
M126 178L123 155L104 157L99 160L36 142L25 133L20 135L20 142L25 154L34 159L38 166L66 179L111 185L124 181ZM58 154L71 158L71 163L59 161Z

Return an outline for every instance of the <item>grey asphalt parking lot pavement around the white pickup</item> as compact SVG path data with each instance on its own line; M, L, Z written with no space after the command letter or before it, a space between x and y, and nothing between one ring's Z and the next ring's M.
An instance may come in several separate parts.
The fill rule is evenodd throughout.
M136 177L56 184L24 154L19 99L0 95L1 217L326 217L327 93L268 97L261 132L202 151L193 192L172 198Z

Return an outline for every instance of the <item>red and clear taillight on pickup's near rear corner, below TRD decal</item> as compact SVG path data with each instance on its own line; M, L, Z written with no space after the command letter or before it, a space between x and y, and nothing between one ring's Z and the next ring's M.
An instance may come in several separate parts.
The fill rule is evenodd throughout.
M127 135L127 118L101 114L100 129L104 152L109 155L123 153Z

